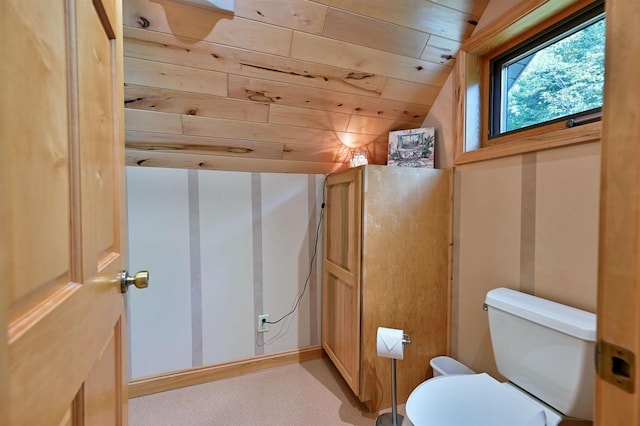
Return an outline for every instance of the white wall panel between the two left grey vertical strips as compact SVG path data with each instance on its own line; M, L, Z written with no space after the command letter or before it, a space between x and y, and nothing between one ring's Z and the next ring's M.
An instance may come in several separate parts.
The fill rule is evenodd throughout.
M251 174L197 175L200 229L194 233L200 238L201 301L196 307L202 311L202 359L194 360L194 367L254 355L256 322Z

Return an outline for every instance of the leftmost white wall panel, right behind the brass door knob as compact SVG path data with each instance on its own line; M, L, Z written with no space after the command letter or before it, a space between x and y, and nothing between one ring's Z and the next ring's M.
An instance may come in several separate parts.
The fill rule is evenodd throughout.
M128 292L134 377L191 363L187 171L142 170L127 170L129 272L150 271Z

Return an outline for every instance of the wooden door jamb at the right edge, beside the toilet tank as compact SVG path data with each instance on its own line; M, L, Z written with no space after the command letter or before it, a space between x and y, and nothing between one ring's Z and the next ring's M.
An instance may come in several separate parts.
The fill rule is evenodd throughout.
M600 359L609 379L596 380L598 426L640 425L639 14L637 1L606 2L598 341L622 349Z

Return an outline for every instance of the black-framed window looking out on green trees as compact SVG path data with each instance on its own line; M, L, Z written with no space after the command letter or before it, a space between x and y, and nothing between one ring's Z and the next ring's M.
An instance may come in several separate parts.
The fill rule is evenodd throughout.
M489 138L599 112L604 40L599 1L491 59Z

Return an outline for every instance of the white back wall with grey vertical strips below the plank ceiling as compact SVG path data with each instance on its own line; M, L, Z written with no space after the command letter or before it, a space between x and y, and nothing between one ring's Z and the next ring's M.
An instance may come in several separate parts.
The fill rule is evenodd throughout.
M128 167L131 378L320 344L323 175ZM321 236L322 234L320 234Z

